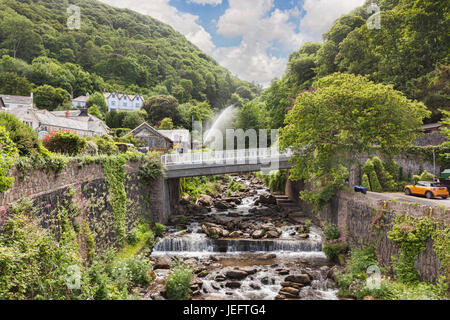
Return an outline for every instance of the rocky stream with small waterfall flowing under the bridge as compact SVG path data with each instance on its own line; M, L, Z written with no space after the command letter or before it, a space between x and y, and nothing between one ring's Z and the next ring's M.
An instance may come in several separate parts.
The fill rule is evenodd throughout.
M279 205L258 203L268 194L262 183L253 176L233 179L248 186L237 204L224 209L219 196L207 213L188 216L181 231L168 227L156 242L151 255L156 279L146 298L164 299L170 266L182 260L194 269L193 300L338 299L321 229L311 225L307 235L299 234L304 223L282 218Z

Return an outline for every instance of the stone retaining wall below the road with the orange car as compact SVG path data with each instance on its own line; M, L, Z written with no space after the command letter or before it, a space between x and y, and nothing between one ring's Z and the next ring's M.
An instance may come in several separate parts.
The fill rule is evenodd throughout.
M286 194L297 201L301 210L309 215L315 223L327 221L339 227L344 239L353 246L372 245L377 250L380 265L392 267L392 256L397 256L397 245L387 238L397 214L414 217L430 215L442 223L450 223L450 214L445 208L422 206L413 203L385 201L371 198L368 195L340 191L329 205L318 213L313 213L312 206L299 200L300 190L308 188L304 182L287 184ZM448 211L448 209L447 209ZM435 282L442 274L439 258L433 250L433 241L428 239L426 250L420 253L416 268L420 271L421 280Z

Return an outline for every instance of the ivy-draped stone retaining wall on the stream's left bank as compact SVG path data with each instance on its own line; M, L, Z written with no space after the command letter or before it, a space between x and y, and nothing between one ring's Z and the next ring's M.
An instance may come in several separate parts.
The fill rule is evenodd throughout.
M169 218L164 178L152 185L142 183L138 177L139 165L139 162L130 162L126 169L127 230L140 222L167 223ZM11 175L16 181L11 189L0 193L0 209L9 207L22 197L31 198L41 224L57 233L60 221L58 206L69 207L75 202L82 207L83 213L73 220L78 225L83 220L88 222L95 235L97 249L102 251L116 245L116 224L109 201L111 195L100 164L79 168L76 163L71 163L58 176L33 171L21 180L19 172L12 171Z

